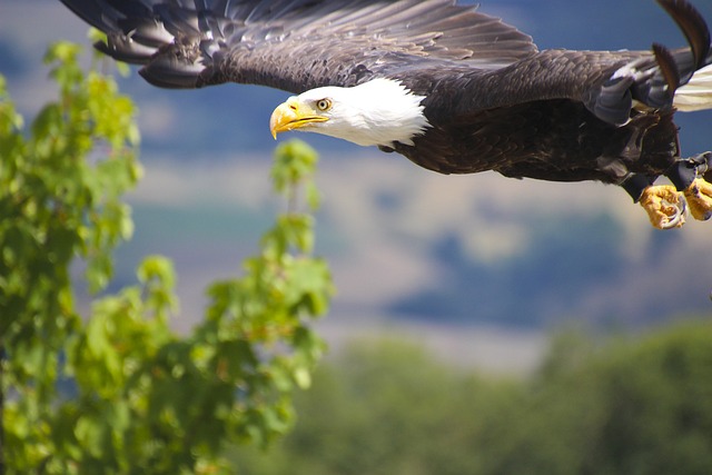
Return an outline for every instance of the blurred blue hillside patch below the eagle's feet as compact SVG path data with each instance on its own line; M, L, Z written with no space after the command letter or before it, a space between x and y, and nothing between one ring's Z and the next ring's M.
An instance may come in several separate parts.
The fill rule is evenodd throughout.
M632 258L621 241L623 228L610 215L546 212L527 221L531 240L516 255L495 261L468 255L461 236L442 236L429 247L439 277L396 299L389 311L524 327L575 317L619 327L712 310L710 267L683 249L680 234L653 234L639 249L642 256ZM702 274L690 276L695 268Z

